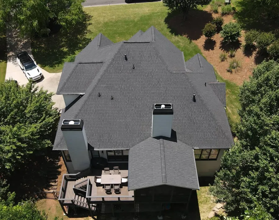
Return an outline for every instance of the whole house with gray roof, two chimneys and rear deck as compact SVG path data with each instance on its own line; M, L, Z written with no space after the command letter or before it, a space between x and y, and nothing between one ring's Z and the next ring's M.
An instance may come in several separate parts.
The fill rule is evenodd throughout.
M225 83L200 54L185 62L153 26L119 43L100 33L64 64L56 94L66 105L53 147L68 170L59 196L65 213L187 208L198 177L212 177L234 144ZM106 193L109 178L121 191Z

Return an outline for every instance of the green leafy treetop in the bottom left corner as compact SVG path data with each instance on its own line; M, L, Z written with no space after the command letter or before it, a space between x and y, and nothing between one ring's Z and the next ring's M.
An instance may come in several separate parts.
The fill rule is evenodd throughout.
M38 210L33 200L22 201L14 205L15 193L9 193L7 200L0 200L0 219L20 219L20 220L47 220L47 214L43 210ZM58 220L57 217L55 217ZM63 218L61 218L62 220Z

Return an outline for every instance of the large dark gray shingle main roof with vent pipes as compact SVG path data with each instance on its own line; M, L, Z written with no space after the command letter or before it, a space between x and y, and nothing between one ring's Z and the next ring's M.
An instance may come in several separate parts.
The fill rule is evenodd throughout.
M138 37L151 41L120 42L98 49L97 36L77 55L75 63L84 59L102 61L103 65L85 95L63 111L61 118L83 119L88 143L95 149L128 149L151 137L152 105L172 103L172 129L179 141L192 148L230 148L234 143L224 105L212 86L204 86L204 82L216 82L212 66L201 55L196 55L192 59L198 63L192 60L185 68L181 51L174 49L175 46L154 28ZM166 49L160 48L161 44ZM177 57L177 61L173 57ZM195 71L195 66L202 71L187 70ZM83 85L88 85L87 81ZM196 102L192 100L193 93L197 94ZM67 149L61 122L55 150Z

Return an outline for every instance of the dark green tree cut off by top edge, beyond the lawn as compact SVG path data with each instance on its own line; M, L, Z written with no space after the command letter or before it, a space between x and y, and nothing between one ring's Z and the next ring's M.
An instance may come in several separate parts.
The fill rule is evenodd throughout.
M181 11L184 19L186 19L190 8L197 8L198 5L208 5L210 2L211 0L163 0L163 4L170 11Z

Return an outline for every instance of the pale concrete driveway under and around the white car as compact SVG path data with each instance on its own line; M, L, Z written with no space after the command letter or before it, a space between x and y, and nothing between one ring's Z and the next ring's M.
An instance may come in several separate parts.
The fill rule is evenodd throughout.
M21 38L19 36L19 31L13 29L12 27L7 27L7 70L5 79L14 79L18 81L19 85L25 85L28 83L27 78L24 73L20 69L16 54L21 51L27 51L30 56L32 56L31 51L31 42L29 38ZM40 68L40 67L39 67ZM44 69L42 70L42 74L44 77L42 79L36 81L36 85L42 87L44 90L48 90L49 92L56 93L59 80L61 77L61 73L48 73ZM52 100L55 102L53 107L57 107L58 109L65 108L65 103L62 95L53 95Z

